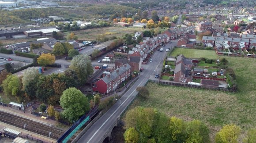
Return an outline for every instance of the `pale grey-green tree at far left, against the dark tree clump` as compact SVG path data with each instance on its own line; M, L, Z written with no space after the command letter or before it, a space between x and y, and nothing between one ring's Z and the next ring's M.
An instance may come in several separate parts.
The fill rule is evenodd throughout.
M22 84L23 89L27 86L27 84L38 77L39 72L37 68L30 67L24 70L23 77L22 77Z

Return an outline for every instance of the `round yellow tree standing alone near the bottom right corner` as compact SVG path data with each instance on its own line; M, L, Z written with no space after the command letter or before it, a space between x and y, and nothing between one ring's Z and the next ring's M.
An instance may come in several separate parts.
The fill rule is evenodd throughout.
M238 143L237 139L240 133L241 133L240 127L234 124L225 125L216 134L215 143Z

